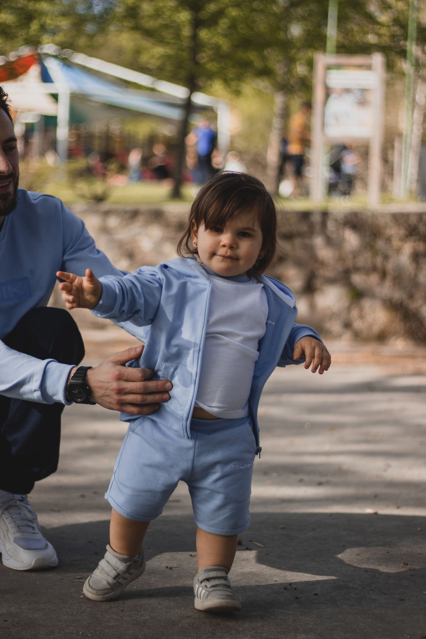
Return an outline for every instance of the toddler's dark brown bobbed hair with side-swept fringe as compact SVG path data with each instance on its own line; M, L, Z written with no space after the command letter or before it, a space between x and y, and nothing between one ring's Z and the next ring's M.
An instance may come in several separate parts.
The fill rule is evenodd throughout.
M252 212L261 227L263 257L250 272L263 273L273 261L277 250L277 210L264 184L247 173L219 173L197 193L192 203L188 226L178 242L176 252L181 258L197 255L192 244L192 232L204 224L206 229L224 228L238 213Z

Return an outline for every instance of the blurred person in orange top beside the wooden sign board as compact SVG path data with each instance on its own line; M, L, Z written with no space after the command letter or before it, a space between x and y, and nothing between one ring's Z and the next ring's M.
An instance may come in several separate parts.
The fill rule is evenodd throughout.
M299 197L303 165L305 164L305 146L310 141L310 114L312 107L305 102L300 111L294 114L289 124L287 161L293 166L293 191L291 197Z

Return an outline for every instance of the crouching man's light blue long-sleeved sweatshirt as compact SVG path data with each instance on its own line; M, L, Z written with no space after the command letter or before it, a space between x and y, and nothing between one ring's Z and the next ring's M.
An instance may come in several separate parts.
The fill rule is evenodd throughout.
M45 306L56 271L122 275L96 249L84 222L57 197L18 189L17 208L0 231L0 394L42 403L65 399L72 366L39 360L8 348L2 339L31 309ZM130 332L135 334L134 328Z

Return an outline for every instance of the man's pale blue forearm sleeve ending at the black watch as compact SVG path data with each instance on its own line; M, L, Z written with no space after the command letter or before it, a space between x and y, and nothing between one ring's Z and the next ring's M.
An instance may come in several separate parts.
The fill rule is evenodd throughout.
M40 360L9 348L0 341L0 395L43 404L71 404L65 385L73 365Z

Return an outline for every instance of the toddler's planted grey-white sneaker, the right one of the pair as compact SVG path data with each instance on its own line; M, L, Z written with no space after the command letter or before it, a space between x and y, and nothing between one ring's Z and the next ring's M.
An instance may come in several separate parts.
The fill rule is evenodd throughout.
M241 603L231 590L228 571L223 566L206 566L194 578L194 606L205 612L234 612Z

